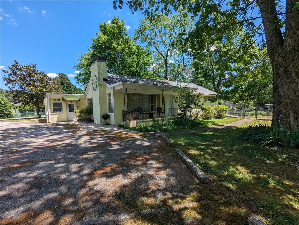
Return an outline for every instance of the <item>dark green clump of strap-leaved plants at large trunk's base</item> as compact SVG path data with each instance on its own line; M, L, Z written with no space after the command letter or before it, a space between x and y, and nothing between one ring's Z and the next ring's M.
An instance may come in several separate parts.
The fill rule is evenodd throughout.
M265 145L283 146L286 148L299 147L299 130L286 130L283 127L269 127L266 124L248 125L241 131L244 140Z

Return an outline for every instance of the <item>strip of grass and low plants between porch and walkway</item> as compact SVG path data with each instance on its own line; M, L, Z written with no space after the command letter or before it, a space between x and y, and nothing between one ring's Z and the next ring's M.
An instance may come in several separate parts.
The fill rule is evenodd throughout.
M241 120L242 118L233 118L233 117L225 117L222 119L212 119L212 120L200 120L200 124L196 127L190 129L182 129L179 126L169 126L169 125L149 125L149 126L138 126L138 127L125 127L126 129L136 130L136 131L175 131L175 130L195 130L206 127L214 127L218 125L228 124L231 122L235 122Z

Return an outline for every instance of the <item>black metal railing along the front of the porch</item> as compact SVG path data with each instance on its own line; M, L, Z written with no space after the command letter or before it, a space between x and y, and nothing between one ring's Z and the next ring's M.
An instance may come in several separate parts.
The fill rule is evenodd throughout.
M179 108L169 108L165 109L165 112L157 112L157 109L144 109L142 108L142 113L140 113L137 109L123 110L123 121L128 120L140 120L140 119L152 119L152 118L164 118L170 116L179 115Z

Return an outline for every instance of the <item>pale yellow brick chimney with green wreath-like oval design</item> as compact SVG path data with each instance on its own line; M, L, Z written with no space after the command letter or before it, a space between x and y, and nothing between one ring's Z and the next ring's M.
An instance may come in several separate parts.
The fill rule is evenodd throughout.
M101 124L103 118L101 115L107 113L107 93L106 85L103 79L107 79L107 65L106 57L95 56L91 60L91 88L92 88L92 101L94 111L94 123ZM106 98L105 98L106 96Z

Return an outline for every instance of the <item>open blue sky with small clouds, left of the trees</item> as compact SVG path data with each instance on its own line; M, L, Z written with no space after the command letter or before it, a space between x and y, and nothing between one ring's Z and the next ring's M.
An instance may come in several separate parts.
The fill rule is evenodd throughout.
M17 60L37 63L46 74L65 73L72 83L77 56L86 53L99 23L119 16L134 34L141 12L114 10L112 1L0 1L1 88L7 89L2 69ZM79 85L77 85L79 87Z

